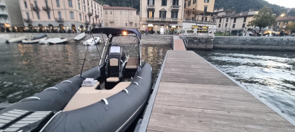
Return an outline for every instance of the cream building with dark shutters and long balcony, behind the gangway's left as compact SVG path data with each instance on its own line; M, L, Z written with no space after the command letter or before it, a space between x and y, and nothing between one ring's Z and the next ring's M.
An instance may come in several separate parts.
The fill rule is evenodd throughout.
M183 0L140 0L140 30L161 34L180 31L183 26Z

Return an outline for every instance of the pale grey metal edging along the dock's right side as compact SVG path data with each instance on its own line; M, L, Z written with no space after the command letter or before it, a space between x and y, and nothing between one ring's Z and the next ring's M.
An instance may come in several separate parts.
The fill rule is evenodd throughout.
M194 51L191 51L193 53L195 53ZM232 82L235 82L238 86L240 86L242 89L244 89L245 91L247 91L249 94L251 94L252 96L254 96L256 99L258 99L259 101L261 101L263 104L265 104L266 106L268 106L271 110L275 111L278 115L280 115L281 117L283 117L285 120L289 121L289 123L291 123L292 125L295 126L295 121L294 119L290 118L290 116L288 116L287 114L284 114L281 112L280 109L278 109L276 106L274 106L273 104L265 101L264 99L260 98L257 94L255 94L254 92L252 92L250 89L247 89L244 85L240 84L240 82L236 81L234 78L230 77L229 75L227 75L225 72L222 72L220 69L218 69L217 67L215 67L213 64L211 64L210 62L208 62L206 59L204 59L203 57L201 57L200 55L198 55L197 53L195 53L197 56L199 56L201 59L203 59L205 62L207 62L209 65L211 65L212 67L214 67L216 70L218 70L219 72L221 72L223 75L225 75L227 78L229 78L230 80L232 80Z

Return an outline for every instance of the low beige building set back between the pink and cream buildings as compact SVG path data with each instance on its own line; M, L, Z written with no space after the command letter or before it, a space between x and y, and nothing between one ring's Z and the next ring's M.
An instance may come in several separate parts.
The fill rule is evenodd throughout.
M132 28L139 30L139 13L131 7L104 5L104 26L112 28Z

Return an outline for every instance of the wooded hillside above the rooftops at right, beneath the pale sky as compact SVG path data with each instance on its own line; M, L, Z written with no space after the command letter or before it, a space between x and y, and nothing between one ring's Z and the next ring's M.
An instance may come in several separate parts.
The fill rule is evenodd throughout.
M287 11L287 9L283 6L269 4L264 0L215 0L214 8L218 9L223 7L224 10L227 10L234 7L236 12L244 12L249 11L249 9L258 11L263 6L270 7L273 13L277 14L277 16Z

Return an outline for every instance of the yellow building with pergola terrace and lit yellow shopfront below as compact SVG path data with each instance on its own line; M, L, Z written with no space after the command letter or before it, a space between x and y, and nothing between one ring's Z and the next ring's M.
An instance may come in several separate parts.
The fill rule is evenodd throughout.
M216 31L215 0L184 0L183 28L197 28L198 32Z

